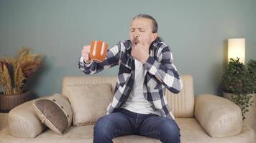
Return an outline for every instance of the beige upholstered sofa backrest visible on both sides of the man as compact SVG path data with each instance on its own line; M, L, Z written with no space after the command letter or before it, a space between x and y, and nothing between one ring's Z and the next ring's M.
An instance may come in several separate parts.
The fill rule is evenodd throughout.
M183 89L178 94L165 90L165 94L170 104L170 109L175 117L193 117L194 109L194 94L193 94L193 77L191 75L181 75L183 80ZM112 92L116 84L117 77L107 76L84 76L84 77L65 77L63 79L62 94L66 96L67 87L80 84L101 84L110 83L112 85Z

